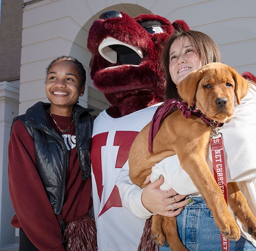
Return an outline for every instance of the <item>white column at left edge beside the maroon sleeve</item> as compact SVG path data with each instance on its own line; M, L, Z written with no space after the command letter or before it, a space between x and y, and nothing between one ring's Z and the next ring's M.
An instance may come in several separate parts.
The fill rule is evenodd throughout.
M19 114L20 82L0 82L0 250L16 249L18 239L10 225L14 211L8 189L8 143L13 117Z

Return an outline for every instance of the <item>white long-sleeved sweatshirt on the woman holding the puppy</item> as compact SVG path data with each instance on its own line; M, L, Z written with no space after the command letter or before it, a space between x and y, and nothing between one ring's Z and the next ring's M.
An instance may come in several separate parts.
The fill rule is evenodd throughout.
M224 124L220 132L223 135L227 181L238 182L251 211L256 215L256 92L254 90L249 90L247 96L240 101L240 105L235 103L234 115ZM212 170L210 152L207 162ZM138 218L149 218L152 213L140 202L142 190L132 184L128 169L127 161L116 181L122 205ZM156 163L152 168L151 181L160 174L165 180L161 186L162 190L172 187L180 194L200 195L189 175L180 166L177 155ZM243 229L240 222L237 223L241 227L242 235L256 246L256 240Z

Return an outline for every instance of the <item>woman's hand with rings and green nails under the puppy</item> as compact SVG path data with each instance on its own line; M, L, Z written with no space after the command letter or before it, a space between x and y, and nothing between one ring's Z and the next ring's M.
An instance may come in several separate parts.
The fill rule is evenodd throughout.
M149 181L150 175L146 178L144 184L148 184ZM182 212L184 206L191 202L191 199L182 200L187 195L177 194L173 189L161 190L160 186L163 182L164 177L161 175L159 179L144 188L141 195L142 204L152 213L167 217L177 216Z

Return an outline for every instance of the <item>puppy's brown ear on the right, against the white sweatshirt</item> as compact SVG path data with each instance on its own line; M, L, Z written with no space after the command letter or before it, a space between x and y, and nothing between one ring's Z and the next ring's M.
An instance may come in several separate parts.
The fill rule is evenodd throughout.
M246 96L249 91L249 83L234 68L230 67L235 80L236 102L240 104L240 100Z

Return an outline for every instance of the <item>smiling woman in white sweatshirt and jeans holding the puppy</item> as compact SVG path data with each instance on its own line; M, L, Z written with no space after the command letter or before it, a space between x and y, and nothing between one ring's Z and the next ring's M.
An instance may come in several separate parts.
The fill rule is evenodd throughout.
M220 62L217 45L202 32L175 33L166 42L163 51L163 69L167 77L166 99L180 99L176 86L191 71L211 62ZM221 130L224 138L227 180L236 181L251 211L256 215L256 91L250 88L241 104L235 103L235 113ZM193 132L191 132L193 133ZM208 158L212 168L211 156ZM159 179L158 179L159 177ZM189 250L222 250L219 229L202 196L188 174L179 165L176 155L166 158L152 168L153 183L146 188L131 183L128 162L121 169L116 182L122 205L135 216L147 219L152 213L168 217L177 216L180 238ZM149 182L149 177L144 181ZM162 185L162 189L159 187ZM172 189L171 189L172 188ZM189 196L180 195L189 194ZM182 200L183 198L188 200ZM189 202L189 205L187 205ZM214 201L213 201L214 203ZM184 210L183 210L184 209ZM256 240L241 228L242 237L230 241L230 250L256 250ZM252 234L253 235L253 234ZM168 244L160 251L170 250Z

